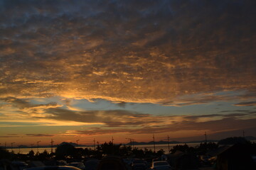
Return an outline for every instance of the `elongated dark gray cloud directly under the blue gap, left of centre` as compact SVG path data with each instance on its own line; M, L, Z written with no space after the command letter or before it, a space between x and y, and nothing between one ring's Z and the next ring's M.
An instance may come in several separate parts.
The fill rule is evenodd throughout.
M161 118L154 118L149 114L134 113L132 111L68 111L62 108L48 108L46 118L53 120L75 121L79 123L104 123L108 127L133 125L142 126L151 123L163 123Z

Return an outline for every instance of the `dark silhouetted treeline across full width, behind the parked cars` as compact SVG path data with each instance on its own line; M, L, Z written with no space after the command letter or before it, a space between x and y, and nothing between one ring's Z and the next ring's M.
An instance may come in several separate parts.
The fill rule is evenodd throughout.
M235 144L235 143L245 143L251 144L250 141L245 140L245 138L241 139L241 137L228 137L224 140L220 140L220 142L208 142L201 143L196 147L189 147L188 145L176 145L172 149L170 149L170 153L174 154L176 152L185 152L192 153L196 155L206 154L210 150L217 149L219 145L223 144ZM252 145L255 145L252 144ZM48 159L87 159L87 158L95 158L102 159L102 157L106 157L108 155L116 155L119 157L137 157L137 158L152 158L152 157L160 157L164 153L163 149L160 149L157 152L153 152L151 149L138 149L137 147L132 148L129 145L114 145L112 142L105 142L102 145L97 145L95 149L90 148L76 148L72 144L63 142L62 145L58 145L55 149L55 152L48 153L46 150L42 153L34 152L31 150L28 154L14 154L14 152L9 152L4 148L0 148L0 159L10 159L10 160L48 160Z

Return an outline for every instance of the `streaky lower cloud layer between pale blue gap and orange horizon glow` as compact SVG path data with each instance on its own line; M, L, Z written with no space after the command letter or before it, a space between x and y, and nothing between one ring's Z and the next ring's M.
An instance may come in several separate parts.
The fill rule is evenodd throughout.
M40 105L40 111L31 111L38 108L38 105L29 101L18 100L16 98L6 98L9 104L19 109L14 120L23 120L26 123L15 123L16 126L28 127L53 126L53 125L90 125L87 130L67 130L63 135L107 135L116 133L151 134L186 131L206 130L210 133L255 128L255 115L253 110L230 110L219 111L215 114L206 115L150 115L125 110L93 110L93 111L72 111L60 105L46 103ZM2 121L9 120L8 114L1 115ZM43 123L43 124L42 124ZM11 127L13 122L1 122L1 127ZM13 135L11 135L13 136ZM29 137L52 137L53 135L43 135L39 133L27 133Z

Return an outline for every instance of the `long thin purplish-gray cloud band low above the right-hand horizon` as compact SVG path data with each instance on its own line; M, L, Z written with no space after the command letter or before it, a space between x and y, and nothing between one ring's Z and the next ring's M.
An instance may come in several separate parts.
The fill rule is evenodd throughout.
M180 122L173 125L159 125L153 127L144 128L96 128L91 130L75 130L78 134L83 135L104 135L111 133L126 132L130 135L132 134L152 134L152 133L162 133L162 132L178 132L181 130L204 130L210 133L225 132L232 130L242 130L247 128L255 128L255 119L252 120L239 120L233 118L224 118L222 120L210 120L207 122Z

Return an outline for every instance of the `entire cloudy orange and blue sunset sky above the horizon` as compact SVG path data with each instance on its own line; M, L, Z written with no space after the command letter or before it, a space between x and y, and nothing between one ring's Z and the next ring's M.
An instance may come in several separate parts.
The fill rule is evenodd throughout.
M0 0L0 146L256 136L255 6Z

